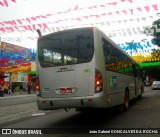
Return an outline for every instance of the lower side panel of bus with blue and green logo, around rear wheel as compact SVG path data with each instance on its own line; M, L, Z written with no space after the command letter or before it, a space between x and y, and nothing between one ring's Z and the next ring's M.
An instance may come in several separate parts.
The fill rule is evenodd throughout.
M134 77L106 70L107 93L111 106L124 102L124 92L129 88L130 99L135 98Z

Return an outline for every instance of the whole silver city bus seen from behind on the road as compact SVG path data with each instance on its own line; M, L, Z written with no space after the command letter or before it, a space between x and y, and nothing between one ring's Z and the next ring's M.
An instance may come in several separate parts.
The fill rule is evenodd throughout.
M39 110L127 110L144 92L139 64L96 27L40 36L37 78Z

